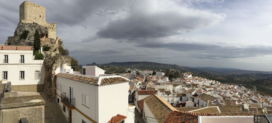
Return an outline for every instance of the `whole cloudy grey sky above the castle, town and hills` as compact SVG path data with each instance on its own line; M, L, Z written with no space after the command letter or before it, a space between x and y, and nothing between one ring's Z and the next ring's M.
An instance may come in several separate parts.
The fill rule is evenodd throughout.
M0 1L0 44L23 1ZM149 61L272 71L270 0L33 0L82 65Z

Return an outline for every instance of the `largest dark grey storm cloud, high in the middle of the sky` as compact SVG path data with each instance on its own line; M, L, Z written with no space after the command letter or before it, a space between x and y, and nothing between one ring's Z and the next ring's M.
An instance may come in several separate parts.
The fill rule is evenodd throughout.
M160 10L157 11L143 7L148 6L148 2L147 5L142 4L139 1L132 3L129 8L130 13L126 18L109 22L97 32L97 35L102 38L128 41L162 38L209 26L225 18L224 14L179 8L174 3L160 6ZM173 9L170 10L168 7L173 7Z

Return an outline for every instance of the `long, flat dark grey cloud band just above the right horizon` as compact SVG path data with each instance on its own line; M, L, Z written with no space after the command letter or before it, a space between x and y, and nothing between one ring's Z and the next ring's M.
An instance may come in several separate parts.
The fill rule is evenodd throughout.
M246 58L262 55L272 55L272 46L234 46L218 45L208 43L142 43L137 47L163 48L167 50L180 51L180 53L190 54L194 58Z

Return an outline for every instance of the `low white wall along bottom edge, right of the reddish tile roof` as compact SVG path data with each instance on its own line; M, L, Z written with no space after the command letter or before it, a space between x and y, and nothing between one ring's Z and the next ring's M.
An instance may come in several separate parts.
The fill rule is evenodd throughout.
M199 116L199 123L253 123L254 116Z

